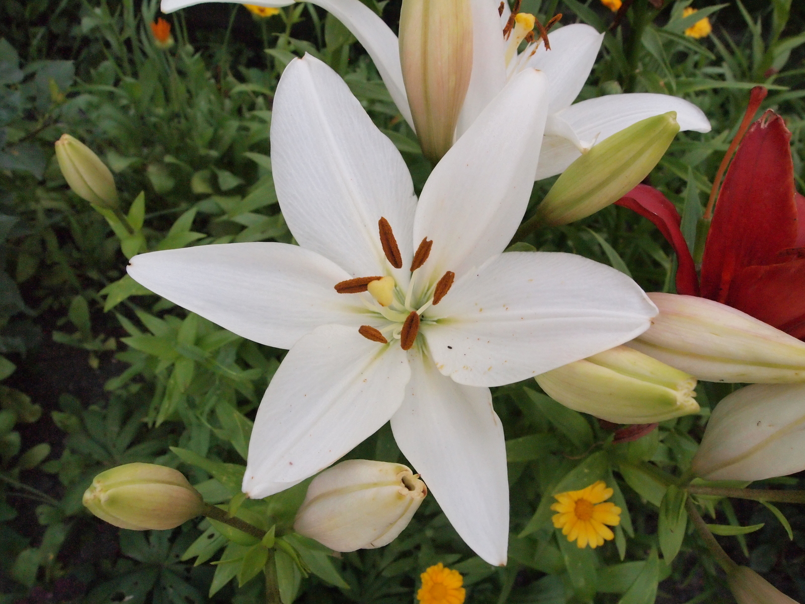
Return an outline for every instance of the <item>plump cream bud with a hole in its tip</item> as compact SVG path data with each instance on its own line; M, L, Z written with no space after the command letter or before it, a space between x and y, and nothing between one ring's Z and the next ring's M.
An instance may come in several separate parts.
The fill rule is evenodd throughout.
M426 494L405 465L342 461L310 483L294 528L336 552L379 548L403 532Z

